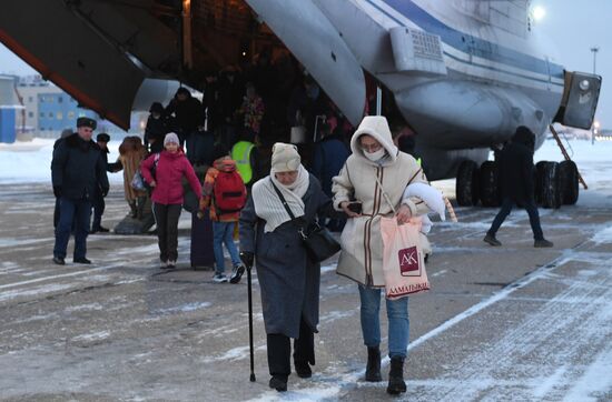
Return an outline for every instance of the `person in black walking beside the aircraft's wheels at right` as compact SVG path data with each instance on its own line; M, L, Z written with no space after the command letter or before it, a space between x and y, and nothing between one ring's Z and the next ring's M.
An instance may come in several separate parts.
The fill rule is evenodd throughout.
M512 142L500 152L500 183L502 188L502 208L491 229L486 232L484 241L491 245L502 245L495 238L497 230L512 211L514 204L523 205L530 215L531 229L533 231L534 247L547 248L553 243L544 239L540 225L540 214L534 200L533 183L533 152L535 135L526 127L516 129Z

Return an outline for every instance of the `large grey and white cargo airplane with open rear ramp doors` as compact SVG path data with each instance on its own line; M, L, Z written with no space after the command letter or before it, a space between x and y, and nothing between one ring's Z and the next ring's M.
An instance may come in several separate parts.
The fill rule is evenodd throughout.
M461 205L499 204L488 154L519 125L536 148L552 122L591 128L602 81L554 61L530 0L10 0L2 9L4 46L126 129L146 79L198 88L264 48L290 52L355 125L374 80L416 132L427 178L457 178ZM544 207L578 200L572 162L541 164L536 183Z

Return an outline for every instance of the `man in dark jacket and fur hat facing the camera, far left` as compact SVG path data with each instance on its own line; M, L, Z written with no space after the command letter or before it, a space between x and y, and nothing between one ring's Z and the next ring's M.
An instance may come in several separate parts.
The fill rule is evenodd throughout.
M58 143L51 161L53 193L60 199L60 219L56 231L53 262L63 265L66 249L75 222L75 263L90 264L87 254L87 234L91 218L91 201L96 189L108 194L102 151L91 140L96 120L79 118L77 132Z

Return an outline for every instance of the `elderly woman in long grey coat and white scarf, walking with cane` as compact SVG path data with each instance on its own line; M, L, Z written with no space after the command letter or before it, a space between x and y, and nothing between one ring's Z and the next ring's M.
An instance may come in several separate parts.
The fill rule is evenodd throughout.
M276 189L275 189L276 187ZM292 220L277 194L290 208ZM245 263L256 260L267 334L269 386L287 390L290 338L297 375L309 378L315 364L320 264L313 261L298 229L317 214L332 212L318 180L300 163L297 148L276 143L270 174L253 185L240 213L240 251Z

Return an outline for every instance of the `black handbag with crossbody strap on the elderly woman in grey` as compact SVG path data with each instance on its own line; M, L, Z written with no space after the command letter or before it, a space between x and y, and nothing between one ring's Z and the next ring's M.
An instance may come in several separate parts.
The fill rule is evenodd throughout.
M276 191L276 194L280 199L283 207L285 207L285 210L289 214L289 218L292 219L292 221L297 222L298 220L296 220L294 213L292 212L292 209L285 200L285 197L283 197L283 193L274 184L272 179L270 182L274 187L274 190ZM316 262L327 260L328 258L340 251L340 244L336 241L336 239L334 239L327 228L319 225L318 222L310 224L308 228L299 225L297 232L302 237L308 254Z

